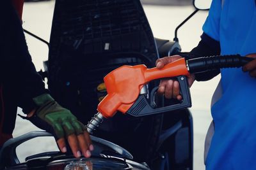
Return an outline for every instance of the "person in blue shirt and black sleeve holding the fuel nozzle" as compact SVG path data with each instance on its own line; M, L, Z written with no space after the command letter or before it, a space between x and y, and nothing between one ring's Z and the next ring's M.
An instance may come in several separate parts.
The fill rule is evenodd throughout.
M256 58L255 0L213 0L203 26L201 41L189 57L240 54ZM164 57L157 68L179 59ZM206 169L256 169L256 60L242 69L221 69L193 74L193 81L205 81L221 73L212 98L213 122L205 140ZM167 98L182 99L179 83L163 80L159 93Z

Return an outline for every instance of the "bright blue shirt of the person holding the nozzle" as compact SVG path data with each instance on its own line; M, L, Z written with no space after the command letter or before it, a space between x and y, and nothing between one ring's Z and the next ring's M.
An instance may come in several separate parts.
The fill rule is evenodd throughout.
M212 1L204 32L220 41L222 55L256 53L255 0L222 1ZM256 169L256 79L241 68L221 69L221 85L206 169Z

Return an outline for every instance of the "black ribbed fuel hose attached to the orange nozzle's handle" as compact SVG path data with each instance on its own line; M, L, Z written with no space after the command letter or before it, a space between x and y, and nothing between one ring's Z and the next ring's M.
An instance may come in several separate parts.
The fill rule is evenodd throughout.
M214 69L242 67L252 61L253 58L241 55L216 55L210 57L198 57L187 60L189 73L200 73Z

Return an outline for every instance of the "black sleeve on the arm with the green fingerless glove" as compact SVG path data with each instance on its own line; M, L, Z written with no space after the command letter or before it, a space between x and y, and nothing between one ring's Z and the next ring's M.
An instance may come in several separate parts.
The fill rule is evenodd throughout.
M36 72L20 19L10 0L0 5L0 79L15 87L17 106L28 113L35 104L33 97L47 92L42 77Z

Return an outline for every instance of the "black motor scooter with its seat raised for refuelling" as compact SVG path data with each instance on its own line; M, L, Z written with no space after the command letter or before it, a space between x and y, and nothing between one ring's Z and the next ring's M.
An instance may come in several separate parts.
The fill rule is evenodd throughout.
M106 96L106 89L101 86L106 74L124 64L154 67L159 57L178 53L177 36L174 41L154 38L140 1L56 0L49 60L45 62L45 72L40 73L43 78L48 78L51 95L87 124L100 99ZM148 83L148 93L158 83ZM177 101L157 97L155 103L161 107ZM108 165L109 169L193 169L193 124L188 109L163 111L140 118L116 114L111 120L105 120L93 135L103 138L92 136L96 146L91 159L94 169ZM50 169L54 165L56 169L56 164L62 164L60 168L63 169L76 160L59 152L49 152L32 155L25 163L20 163L15 156L15 147L38 136L49 134L31 132L8 141L1 152L4 168ZM123 146L132 154L104 139ZM6 153L12 154L6 157ZM86 162L81 161L81 164ZM120 164L124 166L115 167Z

